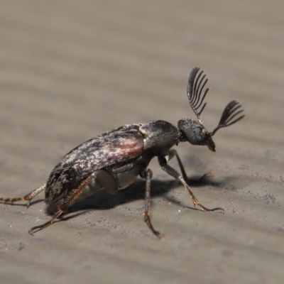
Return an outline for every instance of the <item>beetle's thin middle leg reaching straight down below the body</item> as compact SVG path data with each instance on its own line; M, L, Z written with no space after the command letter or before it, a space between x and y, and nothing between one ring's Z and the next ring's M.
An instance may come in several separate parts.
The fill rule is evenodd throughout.
M150 202L151 202L151 178L153 176L152 170L148 169L143 174L141 174L141 178L146 179L146 194L145 194L145 208L144 208L144 221L147 226L158 239L162 238L164 234L161 234L159 231L156 231L152 225L150 219Z

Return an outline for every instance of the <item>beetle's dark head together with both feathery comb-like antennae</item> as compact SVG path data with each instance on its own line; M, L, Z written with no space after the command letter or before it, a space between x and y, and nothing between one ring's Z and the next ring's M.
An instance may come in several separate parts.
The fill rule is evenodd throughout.
M214 136L218 129L230 126L231 124L235 124L237 121L243 119L244 115L238 115L244 110L239 110L241 108L239 102L229 102L229 104L226 105L223 111L218 126L212 132L207 131L207 129L205 129L202 124L200 115L204 107L206 106L206 103L204 103L203 105L202 103L209 89L206 89L203 94L202 92L208 79L204 80L206 75L202 76L203 71L197 75L199 70L200 68L198 67L192 69L190 76L188 77L187 84L187 97L189 99L192 110L197 116L197 120L180 119L180 121L178 121L178 129L180 130L180 142L188 141L192 145L207 146L209 150L215 152L215 143L212 139L212 136ZM200 111L198 111L198 109L200 109Z

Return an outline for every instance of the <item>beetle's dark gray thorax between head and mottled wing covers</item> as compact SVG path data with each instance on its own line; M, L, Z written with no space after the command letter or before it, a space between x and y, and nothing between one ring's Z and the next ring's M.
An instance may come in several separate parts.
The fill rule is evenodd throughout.
M151 155L166 155L179 142L178 129L167 121L155 120L141 124L139 131L145 136L144 151Z

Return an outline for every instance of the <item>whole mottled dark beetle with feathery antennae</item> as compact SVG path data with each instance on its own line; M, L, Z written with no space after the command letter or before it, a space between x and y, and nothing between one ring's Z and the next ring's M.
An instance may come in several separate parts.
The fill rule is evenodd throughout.
M62 214L66 214L75 202L103 189L114 194L129 187L140 176L146 180L144 221L160 239L163 234L154 229L149 212L153 173L148 165L157 156L160 167L182 183L195 207L198 206L205 212L219 210L224 214L222 207L209 209L200 204L190 190L178 152L172 149L180 142L189 142L192 145L207 146L215 152L212 136L219 129L244 118L244 114L241 114L244 111L241 104L233 100L226 105L218 126L212 132L207 131L201 119L206 106L203 101L209 90L204 89L207 81L206 75L199 67L192 69L187 80L187 97L197 120L180 119L178 127L167 121L154 120L147 124L129 124L107 131L67 153L50 173L48 180L28 195L0 200L11 203L28 201L26 207L29 207L35 195L45 191L45 203L54 209L55 214L45 224L33 226L28 231L33 235L53 224ZM173 157L178 160L181 173L168 165L168 161Z

